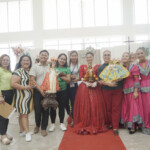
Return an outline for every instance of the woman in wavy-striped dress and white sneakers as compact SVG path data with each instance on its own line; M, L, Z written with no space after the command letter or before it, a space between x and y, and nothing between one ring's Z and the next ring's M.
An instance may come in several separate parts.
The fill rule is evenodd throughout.
M29 85L29 70L31 66L31 57L23 55L20 58L17 70L13 72L11 79L11 86L16 89L13 105L20 114L20 132L25 132L25 140L27 142L31 141L28 114L30 114L33 109L33 87Z

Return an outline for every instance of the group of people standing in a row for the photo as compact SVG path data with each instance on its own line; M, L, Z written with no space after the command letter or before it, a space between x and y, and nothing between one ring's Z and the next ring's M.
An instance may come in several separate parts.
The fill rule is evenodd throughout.
M28 115L33 109L35 134L41 128L42 136L47 135L49 116L49 131L55 130L56 109L45 110L41 105L45 97L41 85L50 67L48 59L47 50L40 51L39 62L34 65L29 55L22 55L16 70L11 72L10 57L4 54L0 58L0 104L7 102L16 108L19 114L20 136L25 136L26 141L31 141ZM135 133L137 129L150 134L150 61L146 59L145 49L138 48L136 57L127 52L123 53L121 64L130 72L123 80L106 82L99 77L111 60L109 50L103 52L103 59L104 64L94 65L94 54L87 52L87 65L80 65L77 51L70 52L69 63L66 54L61 53L58 56L56 71L58 74L65 74L58 76L60 90L56 93L60 129L67 130L64 124L66 110L72 117L70 126L77 134L97 134L113 129L114 135L118 135L120 123L128 128L130 134ZM92 66L98 81L84 81L88 65ZM8 119L0 116L3 144L10 144L13 139L7 133L8 122Z

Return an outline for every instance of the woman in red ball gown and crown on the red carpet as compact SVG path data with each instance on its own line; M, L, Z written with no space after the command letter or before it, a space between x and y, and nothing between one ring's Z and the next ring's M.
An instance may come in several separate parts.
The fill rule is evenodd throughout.
M94 54L86 54L88 64L92 65ZM88 66L81 65L79 76L82 80L87 73ZM94 74L97 74L98 66L93 67ZM97 82L84 82L79 85L74 104L74 131L77 134L97 134L107 131L106 108L102 90Z

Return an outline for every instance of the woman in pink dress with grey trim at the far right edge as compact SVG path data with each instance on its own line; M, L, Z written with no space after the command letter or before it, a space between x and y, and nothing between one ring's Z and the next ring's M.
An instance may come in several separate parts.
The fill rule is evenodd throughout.
M140 47L136 51L139 59L141 76L141 93L143 101L144 125L143 133L150 135L150 60L146 59L145 48Z

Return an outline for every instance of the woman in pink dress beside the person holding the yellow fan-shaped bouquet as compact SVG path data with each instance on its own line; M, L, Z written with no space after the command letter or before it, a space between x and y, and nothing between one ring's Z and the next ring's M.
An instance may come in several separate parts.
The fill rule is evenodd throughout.
M130 54L122 55L123 65L129 70L130 75L125 79L123 85L124 97L122 101L121 123L128 129L129 133L135 133L135 125L143 124L143 106L140 90L138 66L130 64Z

